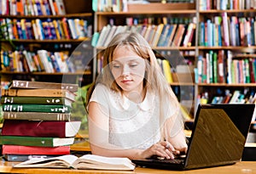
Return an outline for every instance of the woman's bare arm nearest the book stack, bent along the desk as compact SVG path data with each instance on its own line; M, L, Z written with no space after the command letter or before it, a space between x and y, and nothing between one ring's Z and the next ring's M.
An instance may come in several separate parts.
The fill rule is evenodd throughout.
M89 104L88 123L92 154L127 157L129 159L144 159L154 154L167 159L174 158L172 146L166 149L167 142L155 143L148 149L122 149L108 143L109 115L106 109L96 102L90 102Z

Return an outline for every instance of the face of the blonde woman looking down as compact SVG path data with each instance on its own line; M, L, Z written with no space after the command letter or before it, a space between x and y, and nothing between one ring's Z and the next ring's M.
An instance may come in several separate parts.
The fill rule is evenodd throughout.
M116 83L124 92L142 93L146 70L145 60L129 47L119 47L113 52L111 71Z

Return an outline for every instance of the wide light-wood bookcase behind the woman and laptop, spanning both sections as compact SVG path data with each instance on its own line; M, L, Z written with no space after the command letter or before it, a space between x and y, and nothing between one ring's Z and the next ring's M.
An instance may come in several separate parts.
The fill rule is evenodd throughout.
M255 27L255 14L256 14L256 7L249 4L251 1L232 1L232 3L228 3L226 8L220 7L220 2L218 0L211 0L211 1L203 1L203 0L195 0L195 1L177 1L176 3L160 3L160 1L148 1L148 4L128 4L125 6L125 10L121 8L119 10L111 10L111 8L105 8L105 10L97 9L94 15L95 19L95 27L94 33L97 34L97 39L100 38L100 35L103 33L106 28L110 31L113 26L122 25L126 27L126 30L135 30L140 31L137 29L139 25L143 25L148 27L149 25L155 25L154 28L158 28L160 24L183 24L185 25L185 31L183 32L182 41L178 45L166 45L166 44L159 44L159 43L152 43L154 40L148 39L149 44L151 43L152 48L154 49L157 57L160 59L168 59L170 61L170 65L172 65L172 82L170 85L173 88L173 91L177 94L177 98L183 100L184 105L188 102L187 96L180 95L183 93L191 94L189 99L192 98L192 108L190 110L190 114L192 117L195 114L196 106L199 103L212 103L212 99L216 97L223 97L226 93L230 93L233 95L235 91L240 91L244 94L245 98L248 95L254 95L255 97L255 87L256 83L253 82L251 79L251 75L249 76L250 80L246 81L245 79L248 77L243 77L243 81L234 81L237 77L232 73L227 71L227 62L228 56L230 56L229 61L233 62L234 59L240 60L237 62L241 62L240 64L246 64L247 60L253 59L255 61L255 29L253 31L253 27ZM231 1L226 1L231 2ZM241 5L243 2L243 6ZM236 7L237 3L240 5L240 8ZM223 4L222 4L223 5ZM217 7L218 6L218 7ZM230 8L231 7L231 8ZM236 7L236 8L232 8ZM110 9L110 10L109 10ZM250 21L252 25L251 30L247 31L245 34L246 38L250 37L250 42L244 41L239 43L234 40L236 37L235 32L229 31L230 24L233 24L232 21L236 21L235 18L231 18L232 16L236 16L238 19L241 18L241 21ZM226 24L229 30L224 29L223 26L223 18L226 18ZM178 20L179 19L179 20ZM250 19L250 20L248 20ZM189 22L188 22L189 21ZM237 20L239 22L239 20ZM207 40L202 41L202 29L207 30L207 22L208 25L218 26L216 29L212 29L212 35L208 35L209 38L212 38L212 42L208 42ZM190 44L183 44L184 38L186 36L186 32L189 30L189 24L194 23L194 30L195 32L192 35L192 42ZM204 24L204 25L202 25ZM128 28L128 29L127 29ZM148 27L149 28L149 27ZM148 29L147 28L147 29ZM108 30L106 31L108 33ZM148 29L149 30L149 29ZM151 27L151 31L154 30ZM222 36L218 36L221 39L218 39L217 34L214 37L214 30L217 33L222 33ZM225 31L224 31L225 30ZM232 29L234 30L234 29ZM164 35L164 29L160 31L161 35ZM240 29L238 30L240 31ZM156 31L157 32L157 31ZM223 33L226 33L225 35ZM237 31L236 31L237 32ZM162 34L163 33L163 34ZM249 35L249 33L251 33ZM204 33L205 34L205 33ZM248 35L248 36L247 36ZM108 34L107 34L108 36ZM144 35L145 36L145 35ZM227 38L224 38L227 37ZM235 36L235 37L234 37ZM254 40L253 40L254 38ZM173 39L173 38L172 38ZM204 38L205 39L205 38ZM240 38L241 39L241 38ZM100 40L100 39L99 39ZM99 41L98 40L98 41ZM172 40L173 42L173 40ZM226 42L230 42L226 44ZM94 62L94 74L99 73L101 67L101 53L106 47L106 44L102 45L102 43L98 44L97 42L93 43L95 49L95 55L97 55L98 59ZM223 64L218 62L216 64L210 65L210 68L207 68L206 65L202 65L206 68L206 70L212 70L213 67L217 68L217 74L214 72L215 80L211 81L202 81L201 80L201 73L199 72L199 60L206 57L220 57L223 56ZM215 58L214 58L215 59ZM244 61L247 59L246 61ZM218 59L217 59L218 60ZM205 61L205 60L204 60ZM236 61L235 61L236 62ZM231 63L234 64L234 63ZM237 63L238 64L238 63ZM180 66L181 65L181 66ZM189 65L189 70L183 72L182 65ZM218 80L218 69L224 70L222 72L223 80ZM255 70L255 68L254 68ZM213 73L213 70L212 70ZM236 72L239 73L239 72ZM243 74L240 72L240 74ZM254 72L255 74L255 72ZM232 75L233 77L230 77ZM189 79L188 79L189 78ZM204 76L205 78L205 76ZM208 77L209 78L209 77ZM228 81L228 78L231 80ZM181 98L183 97L183 98ZM252 96L253 97L253 96ZM251 97L251 98L252 98ZM241 96L242 98L242 96ZM241 100L245 101L245 100ZM246 101L245 101L246 102ZM220 101L219 101L220 103ZM190 105L189 105L190 104ZM191 103L187 105L191 106Z

